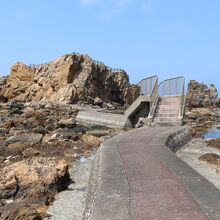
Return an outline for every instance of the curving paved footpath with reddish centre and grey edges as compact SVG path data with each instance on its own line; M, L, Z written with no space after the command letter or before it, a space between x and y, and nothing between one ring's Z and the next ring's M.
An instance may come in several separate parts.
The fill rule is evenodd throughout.
M180 127L141 128L105 142L85 219L220 220L220 192L165 146Z

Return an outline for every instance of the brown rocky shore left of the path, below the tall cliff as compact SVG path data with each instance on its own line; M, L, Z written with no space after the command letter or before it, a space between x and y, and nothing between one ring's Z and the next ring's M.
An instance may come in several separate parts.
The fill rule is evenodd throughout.
M49 102L1 105L0 219L42 219L73 181L69 168L119 130L82 126L78 109Z

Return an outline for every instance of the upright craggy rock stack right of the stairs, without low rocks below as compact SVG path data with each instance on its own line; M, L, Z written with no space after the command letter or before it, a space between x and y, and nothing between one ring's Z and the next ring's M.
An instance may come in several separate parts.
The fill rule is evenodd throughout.
M191 80L187 93L187 107L198 108L214 106L218 101L218 92L213 84L210 88L203 83Z

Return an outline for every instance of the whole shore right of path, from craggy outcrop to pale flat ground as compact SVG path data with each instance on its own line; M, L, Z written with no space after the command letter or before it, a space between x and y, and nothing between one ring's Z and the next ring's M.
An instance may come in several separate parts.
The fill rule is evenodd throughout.
M193 139L176 155L220 189L220 141L204 139L207 131L220 125L220 99L213 84L208 87L190 81L185 124L189 126Z

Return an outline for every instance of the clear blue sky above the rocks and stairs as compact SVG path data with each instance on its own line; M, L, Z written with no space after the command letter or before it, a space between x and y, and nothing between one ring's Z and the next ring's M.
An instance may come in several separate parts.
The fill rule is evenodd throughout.
M73 51L125 69L214 83L220 91L219 0L8 0L0 3L0 74Z

